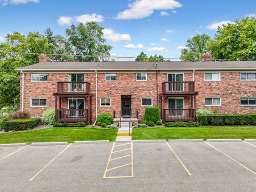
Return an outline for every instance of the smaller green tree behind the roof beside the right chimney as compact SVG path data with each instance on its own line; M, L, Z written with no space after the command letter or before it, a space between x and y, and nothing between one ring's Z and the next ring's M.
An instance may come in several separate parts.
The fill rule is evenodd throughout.
M196 35L187 41L187 49L181 50L182 61L200 61L203 53L207 51L207 43L211 37L205 34Z

